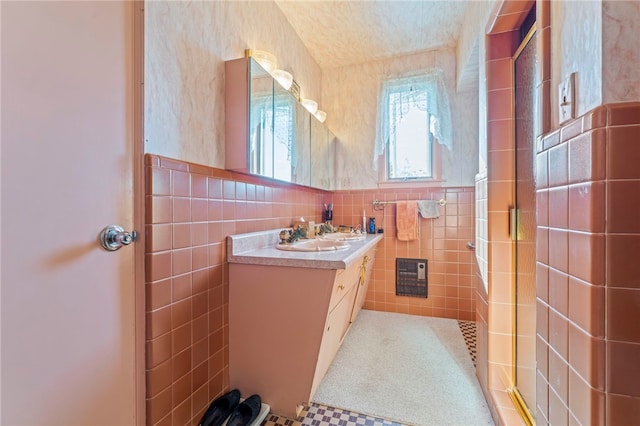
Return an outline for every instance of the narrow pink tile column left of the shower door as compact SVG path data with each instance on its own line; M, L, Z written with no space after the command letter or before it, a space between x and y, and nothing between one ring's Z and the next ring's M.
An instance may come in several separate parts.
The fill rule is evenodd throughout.
M509 8L504 2L502 8ZM514 2L515 3L515 2ZM521 4L521 6L525 6ZM502 10L502 9L501 9ZM522 10L519 12L522 13ZM508 14L509 16L511 14ZM500 15L496 18L500 22ZM505 27L507 29L507 27ZM501 30L502 31L502 30ZM487 315L485 394L496 419L518 418L505 391L513 377L513 242L509 236L509 208L514 205L515 141L513 71L511 56L518 46L518 31L487 37ZM479 292L479 304L484 303ZM480 348L482 349L482 348ZM516 423L517 424L517 423Z

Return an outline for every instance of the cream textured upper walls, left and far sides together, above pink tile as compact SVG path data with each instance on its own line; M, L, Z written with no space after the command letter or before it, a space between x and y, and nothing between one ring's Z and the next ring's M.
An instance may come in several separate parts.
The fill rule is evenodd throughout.
M145 5L145 152L224 168L224 61L247 48L268 50L318 100L341 139L340 188L375 188L377 85L389 73L442 66L448 76L454 152L446 185L473 185L478 90L456 93L454 49L321 72L280 9L262 2L168 2Z

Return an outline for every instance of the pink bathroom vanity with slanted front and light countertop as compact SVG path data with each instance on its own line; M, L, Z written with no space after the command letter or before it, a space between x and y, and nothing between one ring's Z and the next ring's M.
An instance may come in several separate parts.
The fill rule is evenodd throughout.
M364 304L382 235L296 252L276 249L278 233L228 237L229 385L295 419Z

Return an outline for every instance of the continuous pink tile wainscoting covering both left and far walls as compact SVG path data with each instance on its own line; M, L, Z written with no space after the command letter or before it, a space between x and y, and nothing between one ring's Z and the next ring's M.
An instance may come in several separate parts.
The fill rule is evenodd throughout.
M198 423L228 390L227 235L320 222L334 203L334 224L376 217L385 238L376 252L368 309L473 320L473 188L326 192L147 155L147 424ZM395 207L371 202L447 201L441 217L420 221L420 239L395 240ZM429 299L395 296L395 257L429 259Z

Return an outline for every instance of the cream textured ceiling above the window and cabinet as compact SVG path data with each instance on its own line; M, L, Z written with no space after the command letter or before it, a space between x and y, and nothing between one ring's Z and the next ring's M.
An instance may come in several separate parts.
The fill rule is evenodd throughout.
M275 0L320 68L454 46L466 0Z

